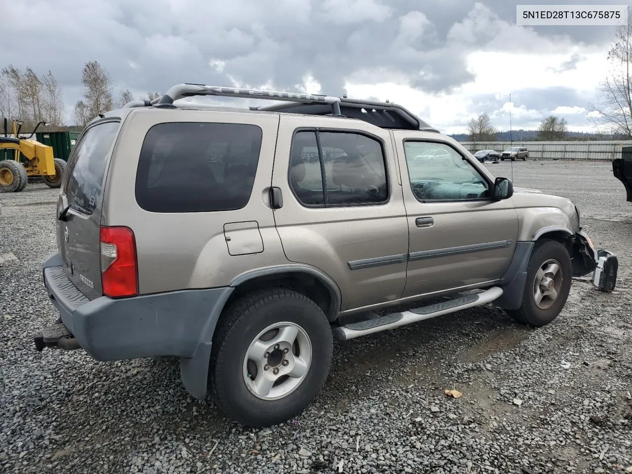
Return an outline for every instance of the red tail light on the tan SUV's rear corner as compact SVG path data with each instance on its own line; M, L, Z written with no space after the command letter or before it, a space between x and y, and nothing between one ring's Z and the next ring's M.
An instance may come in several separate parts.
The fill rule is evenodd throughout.
M136 241L126 227L100 230L101 286L111 298L138 294Z

